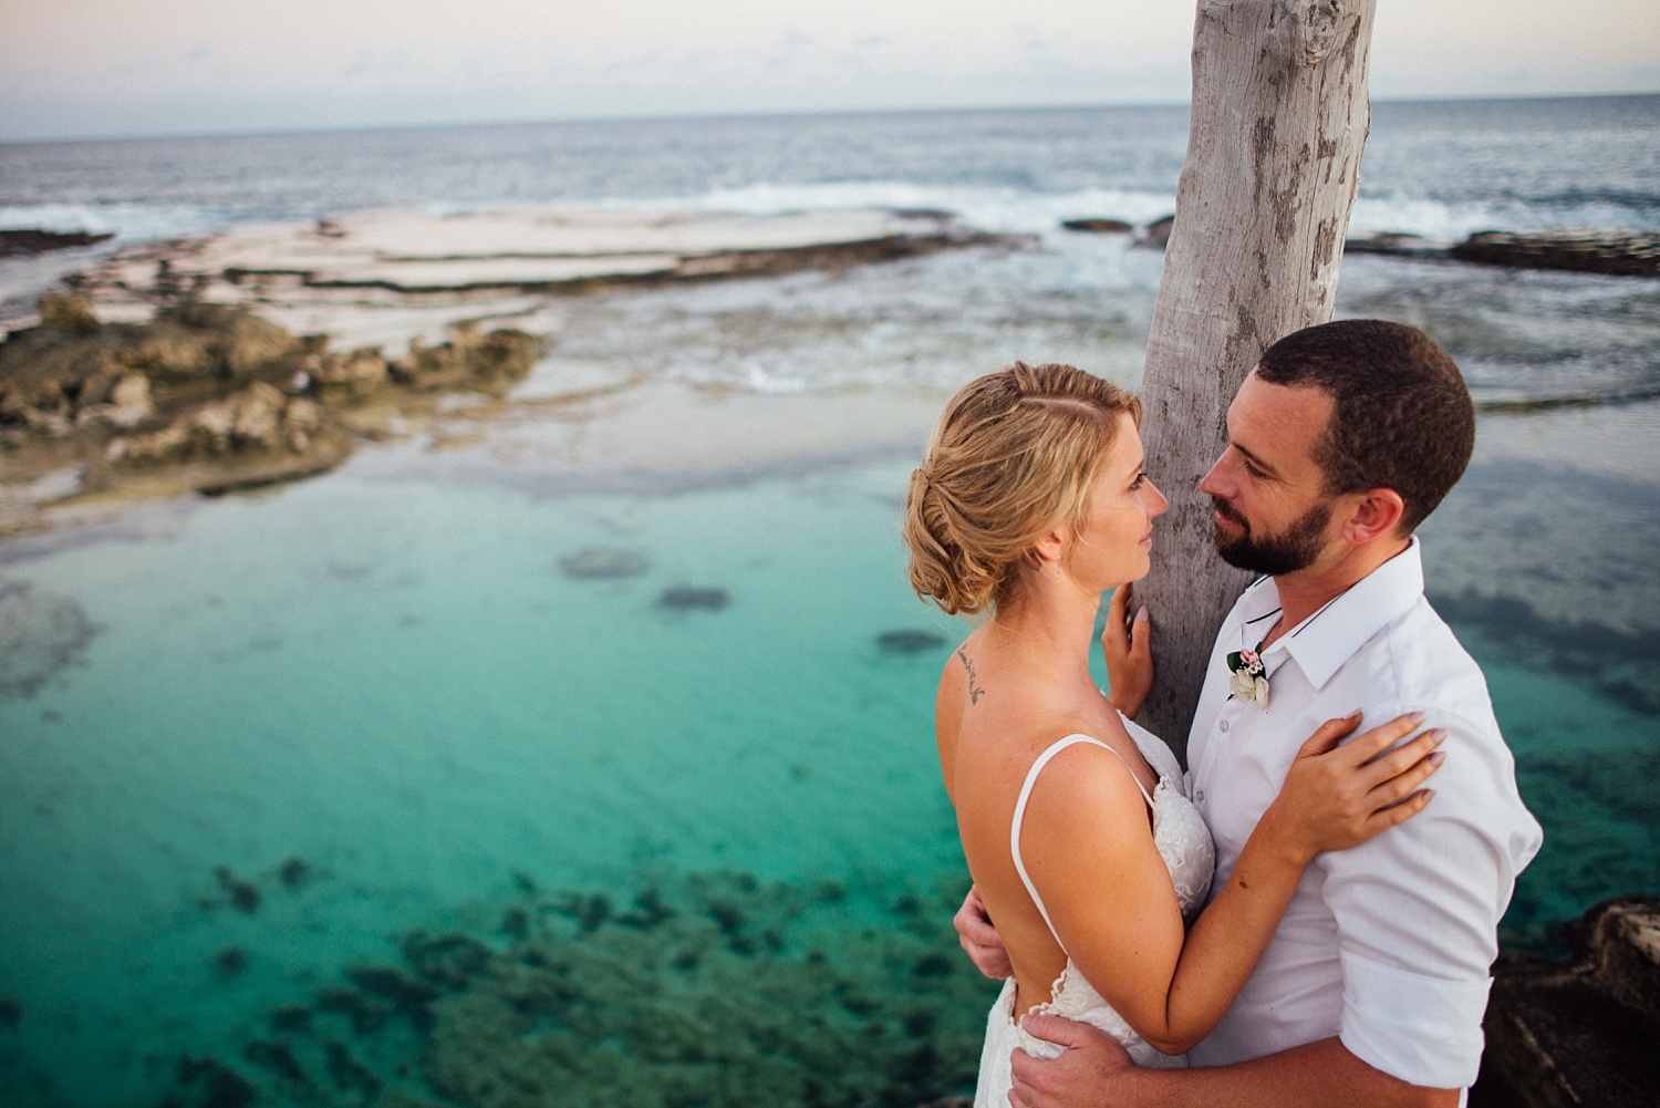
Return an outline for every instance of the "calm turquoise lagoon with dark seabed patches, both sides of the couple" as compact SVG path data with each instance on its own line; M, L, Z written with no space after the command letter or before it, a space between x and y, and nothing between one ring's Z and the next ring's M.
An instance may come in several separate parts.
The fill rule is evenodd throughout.
M1622 412L1652 444L1655 420ZM1426 528L1431 590L1464 616L1547 829L1506 937L1545 950L1557 922L1660 882L1660 718L1617 630L1653 623L1632 560L1660 493L1642 467L1550 460L1595 434L1587 414L1484 419ZM0 575L37 623L13 673L50 679L0 701L7 1100L211 1103L237 1088L224 1065L279 1103L370 1103L382 1081L516 1103L511 1081L586 1088L546 1058L589 1028L613 1043L593 1088L629 1075L616 1103L719 1100L720 1073L812 1100L825 1060L784 1032L803 1020L815 1042L845 1025L833 1068L860 1095L830 1101L961 1088L989 995L951 942L966 875L930 731L961 628L905 588L908 465L558 492L483 449L407 444L13 543ZM1587 555L1595 580L1529 595L1527 566L1585 525L1630 533ZM1587 618L1614 648L1552 653L1542 613L1622 573L1623 610ZM483 944L470 983L420 977L417 929ZM618 968L642 952L662 965ZM573 995L516 1032L530 1017L486 1018L513 1010L500 982L549 960ZM647 1045L676 1022L774 1048L715 1065ZM515 1035L543 1043L528 1071ZM458 1075L478 1057L500 1071Z

